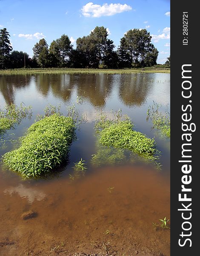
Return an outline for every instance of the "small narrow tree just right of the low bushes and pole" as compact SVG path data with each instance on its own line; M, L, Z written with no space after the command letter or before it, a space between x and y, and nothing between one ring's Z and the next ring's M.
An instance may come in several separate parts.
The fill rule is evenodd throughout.
M49 49L44 38L40 39L33 47L33 59L37 61L40 67L49 66Z

